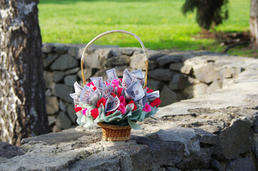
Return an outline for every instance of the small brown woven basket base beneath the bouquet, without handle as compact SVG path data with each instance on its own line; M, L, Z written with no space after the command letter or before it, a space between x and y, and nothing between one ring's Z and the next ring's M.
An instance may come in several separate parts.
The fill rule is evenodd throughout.
M102 128L103 140L107 141L123 141L130 140L131 127L117 126L117 125L107 125L104 123L98 123L98 126Z

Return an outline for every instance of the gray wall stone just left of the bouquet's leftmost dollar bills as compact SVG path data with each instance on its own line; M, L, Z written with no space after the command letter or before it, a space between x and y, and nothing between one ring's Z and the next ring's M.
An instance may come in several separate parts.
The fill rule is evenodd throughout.
M52 86L53 95L56 95L58 98L61 98L69 103L73 101L73 99L69 95L73 93L73 91L73 88L71 88L70 86L66 86L65 84L54 83Z

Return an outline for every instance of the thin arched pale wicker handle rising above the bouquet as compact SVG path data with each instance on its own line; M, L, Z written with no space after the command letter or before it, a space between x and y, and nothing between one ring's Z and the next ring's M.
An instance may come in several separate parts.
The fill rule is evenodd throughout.
M140 38L135 34L135 33L131 33L129 31L123 31L123 30L113 30L113 31L106 31L104 33L100 33L100 35L96 36L96 38L93 38L88 44L87 46L84 48L84 51L83 51L83 55L81 56L81 76L83 78L83 84L86 85L86 80L85 80L85 77L84 77L84 74L83 74L83 58L84 58L84 54L86 53L87 49L91 46L91 44L96 41L98 38L102 37L102 36L105 36L106 34L109 34L109 33L126 33L126 34L129 34L131 36L134 36L140 43L140 46L142 46L143 48L143 53L144 53L144 60L145 60L145 70L146 70L146 74L145 74L145 83L144 83L144 86L143 88L146 88L147 86L147 77L148 77L148 58L147 58L147 50L143 44L143 41L140 40Z

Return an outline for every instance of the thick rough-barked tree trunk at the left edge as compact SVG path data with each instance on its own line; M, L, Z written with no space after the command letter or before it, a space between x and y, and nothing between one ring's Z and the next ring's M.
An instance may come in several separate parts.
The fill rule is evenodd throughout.
M38 0L0 0L0 141L48 133Z

